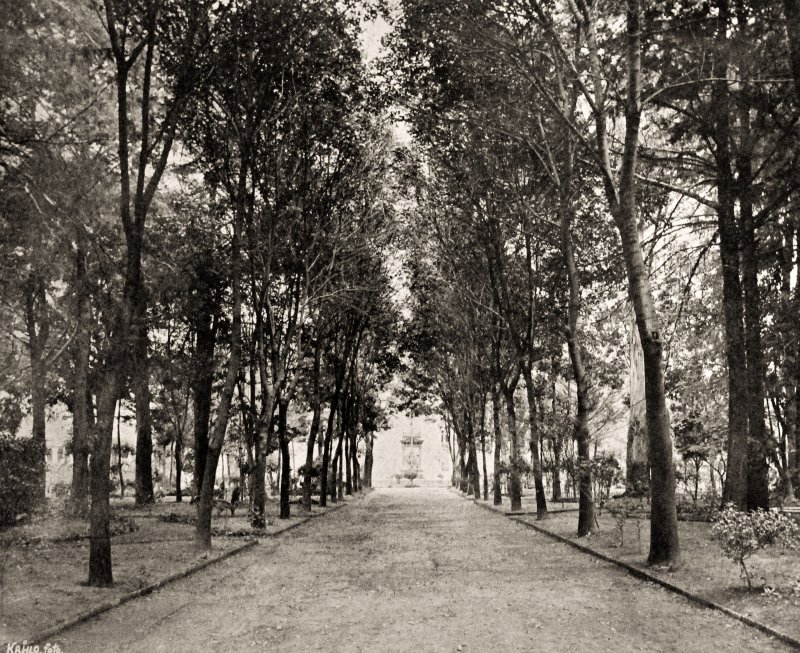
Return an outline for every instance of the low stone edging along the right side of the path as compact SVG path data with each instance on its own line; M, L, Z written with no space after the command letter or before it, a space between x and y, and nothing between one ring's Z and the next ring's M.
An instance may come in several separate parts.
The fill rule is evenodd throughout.
M456 494L458 496L460 496L462 499L467 499L468 501L472 501L476 506L480 506L484 510L489 510L490 512L493 512L493 513L495 513L497 515L501 515L503 517L507 517L511 521L517 522L518 524L522 524L523 526L525 526L527 528L531 528L531 529L535 530L537 533L541 533L542 535L545 535L546 537L549 537L549 538L551 538L553 540L556 540L557 542L561 542L562 544L566 544L567 546L571 546L573 549L577 549L578 551L580 551L582 553L586 553L586 554L588 554L590 556L593 556L595 558L598 558L599 560L603 560L605 562L609 562L609 563L611 563L613 565L616 565L617 567L620 567L620 568L624 569L625 571L627 571L634 578L638 578L639 580L643 580L643 581L646 581L646 582L649 582L649 583L654 583L655 585L663 587L664 589L672 592L673 594L677 594L677 595L682 596L682 597L684 597L686 599L689 599L693 603L696 603L696 604L698 604L698 605L700 605L700 606L702 606L704 608L708 608L709 610L716 610L717 612L722 612L723 614L725 614L725 615L727 615L729 617L732 617L733 619L736 619L740 623L743 623L743 624L745 624L747 626L750 626L751 628L755 628L756 630L760 630L762 633L770 635L770 636L774 637L775 639L779 639L784 644L788 644L792 648L800 650L800 640L792 637L791 635L787 635L786 633L783 633L780 630L776 630L775 628L772 628L771 626L768 626L767 624L764 624L764 623L762 623L760 621L757 621L756 619L753 619L752 617L748 617L747 615L740 614L739 612L736 612L735 610L731 610L730 608L726 608L724 605L720 605L719 603L715 603L714 601L710 601L708 599L704 599L702 596L698 596L697 594L693 594L692 592L690 592L688 590L685 590L682 587L678 587L677 585L674 585L674 584L670 583L669 581L666 581L666 580L663 580L661 578L658 578L657 576L654 576L654 575L644 571L643 569L639 569L638 567L634 567L633 565L630 565L627 562L623 562L622 560L616 560L615 558L612 558L611 556L608 556L605 553L601 553L600 551L595 551L594 549L591 549L588 546L585 546L584 544L580 544L579 542L575 542L574 540L571 540L568 537L564 537L563 535L558 535L557 533L553 533L552 531L549 531L546 528L543 528L542 526L537 526L536 524L531 524L529 521L526 521L525 519L522 519L522 517L519 516L519 513L517 513L517 514L507 514L505 512L501 512L500 510L497 510L494 506L489 506L489 505L486 505L486 504L484 504L484 503L482 503L480 501L476 501L475 499L473 499L471 497L464 496L460 492L456 492Z

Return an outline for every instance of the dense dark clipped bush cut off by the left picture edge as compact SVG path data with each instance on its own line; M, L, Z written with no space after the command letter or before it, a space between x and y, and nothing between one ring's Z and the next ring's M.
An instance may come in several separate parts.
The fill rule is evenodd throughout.
M0 438L0 525L30 512L44 474L44 451L30 438Z

